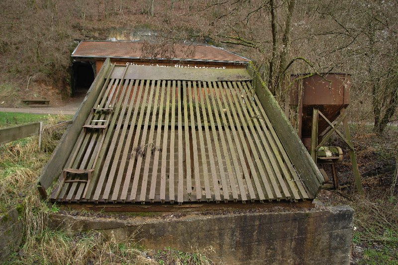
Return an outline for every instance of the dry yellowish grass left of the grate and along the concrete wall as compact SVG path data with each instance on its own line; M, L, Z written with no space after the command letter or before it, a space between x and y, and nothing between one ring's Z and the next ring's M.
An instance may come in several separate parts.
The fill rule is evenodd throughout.
M13 117L14 124L1 120ZM47 125L70 116L15 114L0 112L0 127L42 120ZM43 120L44 119L44 120ZM29 137L0 146L0 213L16 207L24 222L24 244L5 264L136 264L136 265L211 265L205 254L185 253L171 248L158 252L146 250L132 238L123 242L105 239L96 231L73 236L45 228L45 219L58 211L56 205L39 198L36 183L42 167L50 158L63 131L43 137L43 150L37 149L37 137Z

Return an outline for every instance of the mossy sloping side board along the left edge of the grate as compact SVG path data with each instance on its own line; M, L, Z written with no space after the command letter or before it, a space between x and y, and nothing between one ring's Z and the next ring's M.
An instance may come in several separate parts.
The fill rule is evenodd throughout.
M110 60L106 59L96 80L91 85L88 95L83 100L83 103L79 108L78 113L80 115L75 114L73 117L73 123L62 136L60 143L55 148L50 160L41 172L38 185L42 186L44 189L47 189L53 180L61 173L69 154L72 152L73 144L71 143L75 143L78 139L82 126L93 107L93 103L100 94L102 85L104 84L104 78L107 74L110 75L112 69L113 67L110 68Z

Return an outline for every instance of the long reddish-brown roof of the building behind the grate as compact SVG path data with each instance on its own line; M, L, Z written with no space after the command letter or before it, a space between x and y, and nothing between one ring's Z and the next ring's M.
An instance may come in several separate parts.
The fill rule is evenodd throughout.
M81 41L72 57L157 58L249 62L248 59L205 45L156 44L126 41Z

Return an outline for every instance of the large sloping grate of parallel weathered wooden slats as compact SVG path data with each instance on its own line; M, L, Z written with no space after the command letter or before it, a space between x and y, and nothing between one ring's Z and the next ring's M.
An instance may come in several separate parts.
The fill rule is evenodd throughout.
M109 78L71 144L52 200L309 197L250 80Z

